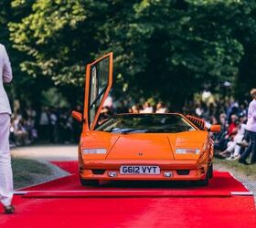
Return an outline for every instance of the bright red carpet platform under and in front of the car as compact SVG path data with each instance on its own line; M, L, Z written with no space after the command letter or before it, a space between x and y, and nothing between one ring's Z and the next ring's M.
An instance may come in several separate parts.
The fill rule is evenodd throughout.
M253 197L229 172L214 172L208 187L186 182L103 182L80 186L77 162L53 162L74 173L22 189L16 214L2 228L256 227Z

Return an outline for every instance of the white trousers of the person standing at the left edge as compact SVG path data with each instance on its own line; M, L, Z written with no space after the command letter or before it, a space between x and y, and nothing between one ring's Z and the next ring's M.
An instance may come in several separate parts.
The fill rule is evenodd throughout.
M9 134L10 115L0 113L0 202L5 206L11 204L14 192Z

